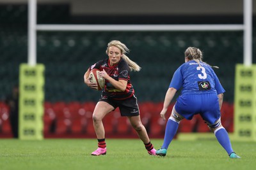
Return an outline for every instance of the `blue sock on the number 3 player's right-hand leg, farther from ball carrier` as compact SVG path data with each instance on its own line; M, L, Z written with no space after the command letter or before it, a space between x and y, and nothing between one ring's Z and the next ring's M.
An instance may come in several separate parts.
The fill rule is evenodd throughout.
M224 128L219 129L215 133L215 136L218 139L220 145L227 151L228 155L234 152L232 150L232 146L231 146L230 139L228 137L228 132L226 131L226 129Z

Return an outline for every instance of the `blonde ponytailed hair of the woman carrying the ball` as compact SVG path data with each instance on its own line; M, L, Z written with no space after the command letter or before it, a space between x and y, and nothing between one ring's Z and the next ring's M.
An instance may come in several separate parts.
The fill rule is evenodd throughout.
M118 40L113 40L113 41L110 41L108 43L108 47L107 47L107 50L106 50L106 53L108 55L108 50L109 50L109 47L110 46L116 46L117 48L120 49L121 53L122 53L122 58L127 62L129 68L134 71L140 71L141 67L134 61L132 61L131 59L129 59L129 57L127 57L127 55L125 55L125 53L129 53L130 50L129 48L127 48L127 46L124 44L124 43L121 43L120 41Z

